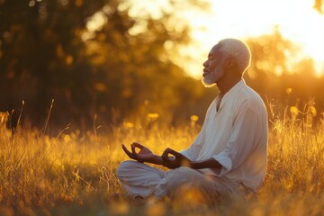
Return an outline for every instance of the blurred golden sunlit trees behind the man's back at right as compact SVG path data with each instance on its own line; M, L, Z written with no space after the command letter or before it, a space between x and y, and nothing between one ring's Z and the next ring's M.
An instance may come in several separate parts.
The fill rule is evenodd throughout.
M302 116L313 107L314 120L324 117L324 76L317 76L312 58L300 58L301 48L284 39L277 28L272 34L248 39L247 44L253 58L247 84L263 97L269 112L284 114L295 106Z

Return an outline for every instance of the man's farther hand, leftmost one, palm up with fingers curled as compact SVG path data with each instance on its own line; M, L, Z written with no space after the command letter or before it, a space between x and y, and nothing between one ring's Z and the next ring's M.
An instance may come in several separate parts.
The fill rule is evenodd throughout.
M125 151L125 153L132 159L137 160L141 163L150 162L153 163L156 159L156 155L153 154L151 150L139 144L138 142L133 142L130 145L131 152L129 149L125 147L124 144L121 144L121 148ZM139 152L136 152L136 148L139 148Z

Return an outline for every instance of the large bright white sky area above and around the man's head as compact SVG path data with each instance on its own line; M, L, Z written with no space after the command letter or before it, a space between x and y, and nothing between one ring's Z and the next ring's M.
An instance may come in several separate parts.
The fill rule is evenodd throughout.
M202 76L203 58L218 40L256 37L272 33L275 28L302 48L301 58L315 60L319 76L324 74L324 14L313 9L312 0L213 0L211 3L208 14L188 14L196 41L190 48L191 55L200 61L186 68L191 75Z

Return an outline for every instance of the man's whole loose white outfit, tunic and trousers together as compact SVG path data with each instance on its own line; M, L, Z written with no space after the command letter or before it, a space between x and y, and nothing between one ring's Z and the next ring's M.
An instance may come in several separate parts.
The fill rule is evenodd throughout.
M220 109L216 111L217 103ZM137 161L124 161L117 177L132 196L172 196L183 185L196 186L219 197L253 193L266 174L267 116L260 96L242 79L211 103L202 130L181 153L193 161L209 158L222 168L194 170L181 166L169 171ZM242 190L243 186L243 190Z

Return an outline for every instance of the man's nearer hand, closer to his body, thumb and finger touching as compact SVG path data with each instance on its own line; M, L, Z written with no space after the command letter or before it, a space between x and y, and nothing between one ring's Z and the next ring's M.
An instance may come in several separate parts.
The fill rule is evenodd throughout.
M169 155L174 157L169 157ZM168 168L177 168L180 166L191 166L191 160L171 148L166 148L162 154L163 166Z

